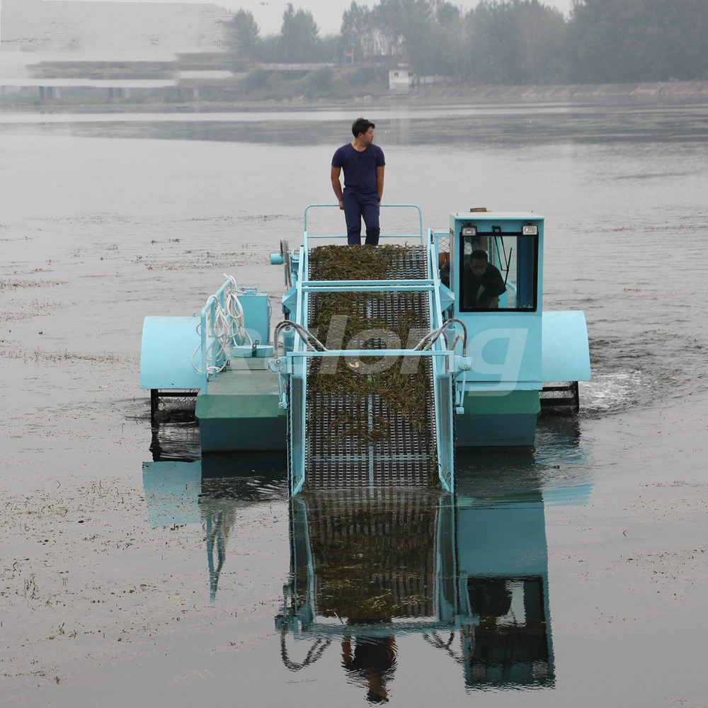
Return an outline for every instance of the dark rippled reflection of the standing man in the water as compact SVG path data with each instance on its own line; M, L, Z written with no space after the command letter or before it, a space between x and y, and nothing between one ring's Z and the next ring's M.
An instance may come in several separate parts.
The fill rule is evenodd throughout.
M374 620L378 624L390 623L390 619ZM347 624L372 624L367 619L348 619ZM347 635L342 640L342 666L355 683L367 688L367 700L371 703L387 703L387 682L393 678L396 668L396 637Z

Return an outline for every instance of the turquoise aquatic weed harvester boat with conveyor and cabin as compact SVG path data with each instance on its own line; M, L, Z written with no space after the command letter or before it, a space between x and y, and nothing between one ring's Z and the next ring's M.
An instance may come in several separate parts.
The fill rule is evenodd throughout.
M543 312L544 219L450 214L379 246L281 243L282 311L227 278L200 315L144 320L140 387L196 394L202 453L287 449L290 493L455 487L455 447L533 445L542 404L578 410L582 312ZM401 239L406 245L399 245ZM395 243L395 242L398 243ZM412 245L411 245L412 244ZM481 275L480 275L481 273ZM501 285L499 283L501 282Z

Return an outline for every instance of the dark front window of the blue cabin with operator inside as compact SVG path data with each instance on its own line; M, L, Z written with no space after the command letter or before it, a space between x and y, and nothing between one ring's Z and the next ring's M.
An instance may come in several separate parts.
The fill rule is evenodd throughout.
M492 227L490 232L464 227L459 244L460 312L496 309L535 312L538 292L537 234L503 234L500 227Z

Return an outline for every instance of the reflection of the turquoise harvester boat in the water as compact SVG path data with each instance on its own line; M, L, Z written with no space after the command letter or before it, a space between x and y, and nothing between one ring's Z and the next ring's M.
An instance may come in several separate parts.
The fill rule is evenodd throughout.
M459 664L467 690L552 687L544 507L586 503L591 485L578 423L539 433L544 452L458 455L455 496L364 488L290 498L290 572L275 617L284 665L307 673L337 651L346 679L385 700L396 638L413 634ZM154 444L156 457L166 447ZM212 602L239 508L287 498L282 453L156 459L143 480L151 525L205 525Z

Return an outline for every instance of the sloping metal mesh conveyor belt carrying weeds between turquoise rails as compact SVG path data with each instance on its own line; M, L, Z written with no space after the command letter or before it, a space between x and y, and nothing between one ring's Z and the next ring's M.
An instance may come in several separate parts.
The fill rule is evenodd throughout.
M367 280L370 290L310 292L308 329L318 331L329 349L416 346L430 331L429 291L377 291L370 283L401 280L415 285L416 280L426 280L426 247L338 248L366 253L369 270L358 277ZM309 252L309 280L353 280L352 275L342 278L338 268L332 268L331 275L323 273L320 250ZM377 273L374 278L372 270ZM341 345L332 347L329 325L334 316L346 322L346 328ZM304 464L311 489L437 484L430 358L340 357L336 368L326 358L309 360Z

